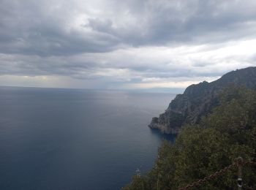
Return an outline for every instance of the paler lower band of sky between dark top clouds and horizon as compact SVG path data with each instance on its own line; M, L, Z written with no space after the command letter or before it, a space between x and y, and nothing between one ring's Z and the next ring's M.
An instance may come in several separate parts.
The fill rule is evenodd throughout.
M1 75L0 85L97 89L186 88L203 80L217 80L233 69L255 66L255 44L256 39L251 39L217 45L129 47L109 53L81 53L61 58L34 56L34 64L45 64L42 68L30 64L28 68L31 56L1 56L8 64L6 68L17 66L15 62L10 64L12 60L19 60L21 67L16 68L16 75ZM54 68L50 69L52 64Z

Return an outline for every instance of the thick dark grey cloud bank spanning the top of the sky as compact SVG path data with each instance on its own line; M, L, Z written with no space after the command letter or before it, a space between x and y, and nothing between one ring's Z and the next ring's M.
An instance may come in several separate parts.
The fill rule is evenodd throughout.
M255 1L107 1L91 7L99 15L85 9L80 28L67 28L83 13L74 2L1 0L1 53L72 55L120 45L223 42L256 29Z

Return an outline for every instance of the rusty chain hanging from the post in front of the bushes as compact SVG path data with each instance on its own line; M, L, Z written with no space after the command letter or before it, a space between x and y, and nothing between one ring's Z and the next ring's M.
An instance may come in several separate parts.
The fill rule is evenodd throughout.
M205 183L207 180L211 180L211 179L217 178L219 175L223 175L225 172L227 172L228 170L231 170L233 167L238 167L239 165L244 166L246 164L256 164L256 162L254 162L254 161L236 161L235 163L230 164L227 167L224 167L222 170L214 172L211 175L208 175L207 177L205 177L203 179L197 180L194 183L191 183L183 188L179 188L178 190L187 190L194 186L201 185L201 184Z

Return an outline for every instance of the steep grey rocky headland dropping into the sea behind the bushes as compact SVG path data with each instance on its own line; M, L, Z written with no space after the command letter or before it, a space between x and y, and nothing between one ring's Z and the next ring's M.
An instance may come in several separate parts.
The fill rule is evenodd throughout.
M256 90L256 67L228 72L211 83L204 81L189 86L184 94L178 94L170 102L165 113L152 118L148 126L163 133L177 134L184 124L196 124L202 116L211 113L218 104L220 91L230 84Z

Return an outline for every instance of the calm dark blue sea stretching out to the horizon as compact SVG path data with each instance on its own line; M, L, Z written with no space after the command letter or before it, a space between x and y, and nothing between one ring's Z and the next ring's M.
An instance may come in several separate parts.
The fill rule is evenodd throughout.
M153 166L147 125L173 97L1 87L0 189L120 189Z

